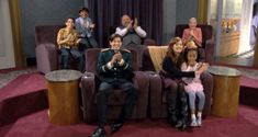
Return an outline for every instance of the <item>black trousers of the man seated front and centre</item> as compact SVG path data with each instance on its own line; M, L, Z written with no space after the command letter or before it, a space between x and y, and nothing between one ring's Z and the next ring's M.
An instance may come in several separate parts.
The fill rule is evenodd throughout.
M97 107L98 107L98 125L104 127L106 122L106 107L108 98L113 89L122 89L126 93L126 99L120 114L119 123L124 123L131 117L134 109L134 104L137 100L138 92L132 82L101 82L99 91L97 93Z

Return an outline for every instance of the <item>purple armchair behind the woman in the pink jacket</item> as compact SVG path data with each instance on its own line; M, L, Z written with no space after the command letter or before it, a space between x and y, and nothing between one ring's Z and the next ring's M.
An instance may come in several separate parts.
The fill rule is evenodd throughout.
M175 36L182 37L183 30L188 27L188 24L177 25ZM197 27L202 30L202 46L205 50L205 61L212 65L214 64L214 41L212 39L213 28L211 25L205 24L198 24Z

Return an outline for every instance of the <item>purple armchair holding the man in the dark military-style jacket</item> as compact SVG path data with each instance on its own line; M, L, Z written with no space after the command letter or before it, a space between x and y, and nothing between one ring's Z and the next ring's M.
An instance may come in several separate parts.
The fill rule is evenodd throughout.
M97 58L101 48L91 48L86 52L86 72L81 78L81 96L82 96L82 114L83 121L87 124L97 122L97 104L96 93L98 90L98 79L96 77ZM138 88L138 100L135 104L132 118L141 119L147 116L147 104L148 104L148 76L138 71L137 54L135 50L132 53L132 62L134 69L134 84ZM114 90L111 93L108 101L108 119L114 119L119 117L122 105L124 103L125 93L120 90Z

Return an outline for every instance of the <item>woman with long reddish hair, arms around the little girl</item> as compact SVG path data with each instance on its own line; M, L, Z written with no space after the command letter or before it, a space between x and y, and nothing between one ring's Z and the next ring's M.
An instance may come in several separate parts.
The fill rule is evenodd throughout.
M169 89L166 93L168 122L171 126L180 129L187 127L188 103L184 91L184 82L182 78L194 78L197 75L206 70L206 66L202 66L197 71L181 71L183 58L183 45L180 37L170 41L168 52L162 61L162 70L165 88ZM179 98L179 99L178 99Z

